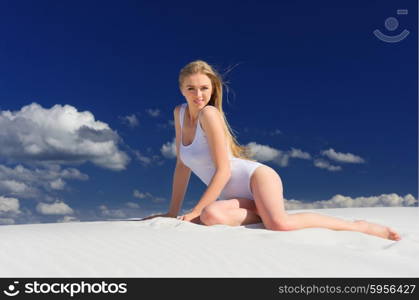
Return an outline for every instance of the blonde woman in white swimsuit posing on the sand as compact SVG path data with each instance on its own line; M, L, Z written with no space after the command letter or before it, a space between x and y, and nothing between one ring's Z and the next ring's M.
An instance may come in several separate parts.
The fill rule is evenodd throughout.
M177 162L168 213L203 225L230 226L263 222L270 230L328 228L357 231L400 240L389 227L366 221L346 221L316 213L288 214L284 208L280 176L269 166L252 160L238 144L222 108L223 81L202 60L190 62L179 74L186 103L174 109ZM193 171L207 189L195 207L178 216Z

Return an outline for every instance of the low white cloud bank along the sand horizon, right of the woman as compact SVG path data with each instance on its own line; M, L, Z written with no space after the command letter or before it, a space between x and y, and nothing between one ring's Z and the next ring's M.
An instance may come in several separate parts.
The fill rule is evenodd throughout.
M319 209L319 208L350 208L350 207L377 207L377 206L416 206L418 200L411 194L402 197L395 193L382 194L371 197L348 197L335 195L329 200L303 202L299 200L285 200L286 209Z

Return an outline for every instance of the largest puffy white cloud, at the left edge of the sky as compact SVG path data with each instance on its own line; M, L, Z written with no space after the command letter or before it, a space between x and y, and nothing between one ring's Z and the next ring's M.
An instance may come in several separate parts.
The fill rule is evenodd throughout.
M80 164L123 170L129 157L106 123L70 105L47 109L37 103L19 111L0 111L0 156L14 162Z

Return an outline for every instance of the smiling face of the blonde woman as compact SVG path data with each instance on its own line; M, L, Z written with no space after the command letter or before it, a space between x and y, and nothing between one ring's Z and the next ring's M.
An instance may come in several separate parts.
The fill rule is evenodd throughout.
M204 108L211 99L211 79L205 74L197 73L183 80L182 95L186 98L189 107L198 110Z

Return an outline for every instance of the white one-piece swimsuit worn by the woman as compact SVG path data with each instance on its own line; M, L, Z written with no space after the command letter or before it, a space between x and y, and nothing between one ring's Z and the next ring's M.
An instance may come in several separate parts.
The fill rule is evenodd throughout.
M206 134L201 128L199 116L195 129L194 140L187 146L184 146L182 142L182 128L187 105L187 103L183 103L180 107L180 159L184 165L190 168L192 172L208 186L215 173L215 164L211 158L211 149L208 145ZM247 198L254 200L250 189L250 177L256 168L263 166L263 164L247 159L237 158L231 153L230 147L227 145L226 147L230 158L231 177L218 199L228 200L233 198Z

